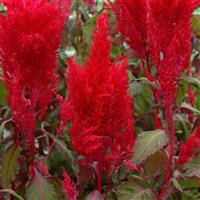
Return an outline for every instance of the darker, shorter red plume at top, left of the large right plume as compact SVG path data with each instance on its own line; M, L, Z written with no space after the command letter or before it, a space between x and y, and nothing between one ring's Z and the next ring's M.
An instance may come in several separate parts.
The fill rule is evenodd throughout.
M116 0L113 10L117 17L119 30L127 43L137 56L146 58L148 56L146 0Z

